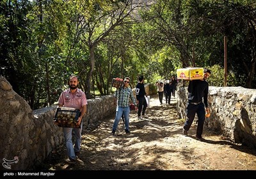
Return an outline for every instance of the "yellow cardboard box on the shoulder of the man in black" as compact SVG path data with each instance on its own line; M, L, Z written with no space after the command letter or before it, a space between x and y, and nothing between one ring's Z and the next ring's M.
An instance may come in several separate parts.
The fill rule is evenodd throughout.
M203 79L204 68L180 68L177 69L177 79Z

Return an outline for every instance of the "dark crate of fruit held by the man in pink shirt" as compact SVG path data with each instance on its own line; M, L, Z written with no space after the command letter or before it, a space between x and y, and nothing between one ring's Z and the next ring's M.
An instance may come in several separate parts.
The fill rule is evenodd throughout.
M81 112L79 109L72 107L58 107L54 116L54 123L58 127L81 128L81 125L76 125Z

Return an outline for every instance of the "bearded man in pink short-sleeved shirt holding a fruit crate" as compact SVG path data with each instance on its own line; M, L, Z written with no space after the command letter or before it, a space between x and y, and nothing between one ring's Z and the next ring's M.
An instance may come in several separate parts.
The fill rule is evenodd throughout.
M79 84L78 78L75 75L71 75L69 77L69 89L62 91L60 98L58 100L58 106L62 107L73 107L79 109L81 114L77 120L77 125L81 125L81 128L70 128L63 127L63 135L65 137L65 144L67 148L68 154L68 162L76 162L76 157L79 156L80 148L81 148L81 136L83 129L83 116L86 113L86 105L87 99L85 93L77 88ZM75 134L75 145L73 147L72 143L72 130L74 130Z

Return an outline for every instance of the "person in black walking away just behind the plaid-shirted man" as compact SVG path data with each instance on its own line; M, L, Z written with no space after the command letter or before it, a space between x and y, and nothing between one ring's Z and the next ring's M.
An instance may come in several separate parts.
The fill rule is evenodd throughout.
M145 91L143 75L139 77L139 82L136 85L135 93L136 93L137 103L139 104L138 119L141 119L141 112L142 112L142 116L145 116L145 111L147 109L147 101L145 99L145 97L147 97L147 93Z

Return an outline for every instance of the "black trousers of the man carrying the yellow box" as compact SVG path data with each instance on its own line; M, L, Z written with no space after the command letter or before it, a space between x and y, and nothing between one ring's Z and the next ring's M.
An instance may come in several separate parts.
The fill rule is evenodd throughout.
M186 108L186 114L187 114L187 119L184 124L184 130L188 131L189 128L191 127L194 119L195 119L195 114L197 114L198 117L198 123L197 123L197 128L196 128L196 136L202 137L203 134L203 129L204 129L204 120L205 120L205 107L204 103L201 102L200 104L189 104L187 105Z

